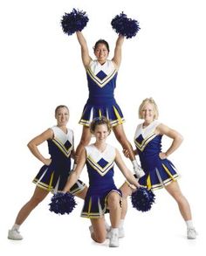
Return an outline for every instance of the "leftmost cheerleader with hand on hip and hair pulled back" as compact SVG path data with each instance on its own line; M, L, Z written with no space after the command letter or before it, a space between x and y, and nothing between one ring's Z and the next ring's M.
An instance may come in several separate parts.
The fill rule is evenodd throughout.
M71 157L74 156L73 132L66 127L69 121L69 109L64 105L56 107L55 118L57 125L48 128L28 143L31 153L44 163L38 175L33 179L36 189L29 202L18 212L15 224L9 230L8 239L21 240L20 225L30 215L31 211L41 203L50 191L56 193L65 187L67 177L71 173ZM38 150L38 145L47 141L51 158L45 158ZM86 196L86 184L78 180L70 192L82 199Z

